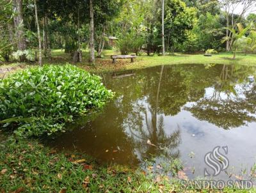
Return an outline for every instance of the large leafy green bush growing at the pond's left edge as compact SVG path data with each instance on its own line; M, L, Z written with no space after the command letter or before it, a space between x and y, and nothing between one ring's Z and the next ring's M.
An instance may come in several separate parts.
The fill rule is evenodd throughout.
M0 120L11 118L1 126L19 135L50 135L112 97L100 77L75 66L31 68L0 81Z

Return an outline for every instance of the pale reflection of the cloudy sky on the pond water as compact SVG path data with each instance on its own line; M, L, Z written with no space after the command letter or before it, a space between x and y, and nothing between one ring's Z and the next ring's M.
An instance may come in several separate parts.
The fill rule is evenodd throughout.
M244 100L246 96L244 91L250 91L253 88L253 78L250 78L250 83L246 84L236 84L234 86L234 93L218 92L219 99L225 100ZM249 84L248 84L249 83ZM211 98L216 92L213 87L205 88L204 98ZM228 98L229 97L229 98ZM140 100L136 104L140 104L147 109L147 114L149 105L147 104L147 99ZM184 107L193 107L196 102L187 102ZM218 108L214 107L215 110ZM143 117L143 130L148 134L147 128L145 127L145 114L140 114ZM255 114L248 113L249 116L256 117ZM179 114L175 116L164 116L164 114L157 114L157 118L163 116L164 120L164 132L166 135L171 135L175 128L180 128L182 143L179 146L181 151L181 159L184 162L187 169L195 168L195 176L202 176L204 174L204 164L205 153L211 151L215 146L228 146L227 157L230 160L229 172L239 173L240 169L249 169L252 167L254 162L256 162L256 148L255 148L255 134L256 134L256 123L247 123L244 126L234 128L232 130L223 130L220 127L207 121L197 120L193 114L189 111L182 110ZM125 129L127 135L134 137L135 135L140 136L140 132L133 131L131 128ZM145 143L140 137L135 137L140 143ZM136 156L141 160L141 151L134 150ZM195 155L191 158L191 153ZM255 156L252 156L255 155ZM157 162L161 162L159 158L156 159ZM243 163L243 164L241 164ZM203 167L204 166L204 167ZM236 169L232 169L236 166ZM238 167L241 168L238 169ZM227 178L226 174L220 174L220 177Z

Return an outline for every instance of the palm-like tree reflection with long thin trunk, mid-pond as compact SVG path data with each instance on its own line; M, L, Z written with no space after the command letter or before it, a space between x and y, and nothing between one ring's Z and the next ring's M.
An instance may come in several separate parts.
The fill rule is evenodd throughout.
M168 159L180 157L180 151L178 149L181 143L180 129L178 128L173 131L172 134L166 135L164 130L164 116L157 114L163 70L164 66L161 66L157 85L156 105L148 105L148 107L145 106L143 109L143 127L132 127L129 122L127 123L134 148L136 148L137 152L140 154L139 157L141 160L145 160L148 156L151 158L164 156ZM134 128L138 129L135 130ZM152 144L146 144L147 142Z

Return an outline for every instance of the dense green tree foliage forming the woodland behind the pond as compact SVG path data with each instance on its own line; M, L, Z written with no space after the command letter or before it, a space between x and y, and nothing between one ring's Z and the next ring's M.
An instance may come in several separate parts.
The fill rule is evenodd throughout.
M246 13L255 3L255 0L95 0L91 3L89 0L4 0L0 4L0 59L9 61L17 50L20 50L19 61L26 59L27 52L37 59L38 51L33 52L42 47L42 53L49 59L51 49L65 49L78 62L83 49L90 48L89 59L93 62L94 50L102 57L103 49L113 47L109 37L118 39L114 46L122 54L160 54L163 47L166 52L230 50L238 23L244 27L252 25L244 37L253 36L255 13ZM237 6L241 7L239 13ZM221 42L224 36L226 43ZM236 50L255 52L255 41L244 39L244 42Z

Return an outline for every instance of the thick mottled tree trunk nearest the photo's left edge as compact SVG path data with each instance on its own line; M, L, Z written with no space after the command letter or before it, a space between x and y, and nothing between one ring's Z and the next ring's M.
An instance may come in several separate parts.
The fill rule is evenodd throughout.
M15 12L13 22L15 26L15 34L17 39L17 49L26 50L26 40L24 36L24 20L22 14L22 0L13 0L13 11ZM20 57L20 61L24 61L25 57Z

